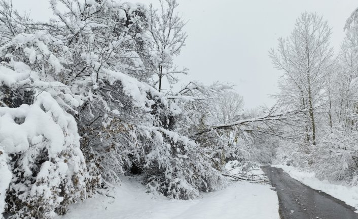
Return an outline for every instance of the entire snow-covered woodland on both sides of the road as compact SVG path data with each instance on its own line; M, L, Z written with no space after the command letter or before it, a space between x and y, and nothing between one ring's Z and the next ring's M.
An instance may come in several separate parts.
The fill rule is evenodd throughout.
M358 9L339 50L303 12L268 55L275 105L244 109L226 82L174 88L190 33L177 0L51 0L34 21L0 1L0 214L54 218L127 176L191 200L284 164L358 186ZM125 197L123 197L125 198ZM1 217L1 216L0 216ZM120 217L119 217L120 218Z

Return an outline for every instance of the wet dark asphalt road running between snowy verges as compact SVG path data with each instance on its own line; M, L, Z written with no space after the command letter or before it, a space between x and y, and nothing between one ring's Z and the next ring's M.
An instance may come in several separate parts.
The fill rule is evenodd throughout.
M281 168L262 166L271 184L276 187L281 219L357 219L355 208L313 190L291 178Z

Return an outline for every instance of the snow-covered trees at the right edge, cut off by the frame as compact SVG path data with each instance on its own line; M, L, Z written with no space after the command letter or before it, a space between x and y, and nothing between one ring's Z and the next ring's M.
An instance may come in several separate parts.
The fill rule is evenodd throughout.
M337 57L338 65L330 80L332 117L331 126L322 137L322 145L313 152L316 176L322 179L358 183L357 45L358 32L354 12L347 20L346 37ZM331 118L331 116L329 116Z

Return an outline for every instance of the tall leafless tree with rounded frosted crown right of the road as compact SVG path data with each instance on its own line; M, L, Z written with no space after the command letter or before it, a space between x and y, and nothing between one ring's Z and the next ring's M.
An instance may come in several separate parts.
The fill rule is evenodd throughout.
M281 92L276 97L289 108L309 109L306 142L316 144L316 112L327 95L327 77L332 70L331 27L315 13L303 13L288 39L279 39L270 51L275 68L283 71ZM308 134L309 133L309 134Z

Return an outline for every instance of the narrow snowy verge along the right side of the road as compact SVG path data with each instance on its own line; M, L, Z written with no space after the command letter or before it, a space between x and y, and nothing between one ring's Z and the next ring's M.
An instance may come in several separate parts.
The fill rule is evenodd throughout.
M319 180L314 177L314 172L303 172L292 166L272 166L283 169L285 172L289 173L292 178L302 182L312 189L325 192L336 199L344 201L347 205L355 207L357 209L355 212L358 213L358 187L333 183L328 180Z

